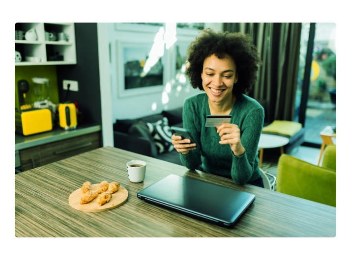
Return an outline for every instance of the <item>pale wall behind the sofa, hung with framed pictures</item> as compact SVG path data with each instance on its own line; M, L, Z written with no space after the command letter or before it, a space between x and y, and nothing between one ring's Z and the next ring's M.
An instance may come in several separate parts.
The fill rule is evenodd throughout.
M204 27L212 27L214 30L223 30L222 23L205 23ZM194 40L198 32L189 31L190 34L177 32L176 44L182 46L181 54L185 54L184 50L188 44ZM157 31L132 31L122 30L116 23L108 23L108 40L110 50L110 84L112 95L112 116L113 123L116 119L134 119L143 117L150 114L156 114L162 110L169 110L182 107L186 98L201 93L199 89L193 89L188 80L186 82L179 82L179 78L175 78L175 47L167 50L165 55L168 57L165 65L166 80L164 85L153 93L140 93L138 95L122 97L120 96L119 84L119 41L120 45L123 42L154 42ZM183 74L183 73L182 73ZM184 78L182 78L184 79ZM181 80L181 79L180 79ZM166 83L170 83L171 87L166 87ZM150 87L146 87L147 89Z

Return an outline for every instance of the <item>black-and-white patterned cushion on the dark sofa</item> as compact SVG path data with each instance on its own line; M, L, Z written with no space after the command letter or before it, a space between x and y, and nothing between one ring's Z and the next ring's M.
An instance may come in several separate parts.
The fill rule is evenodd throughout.
M166 117L156 123L147 122L146 125L154 138L158 154L173 151L172 132Z

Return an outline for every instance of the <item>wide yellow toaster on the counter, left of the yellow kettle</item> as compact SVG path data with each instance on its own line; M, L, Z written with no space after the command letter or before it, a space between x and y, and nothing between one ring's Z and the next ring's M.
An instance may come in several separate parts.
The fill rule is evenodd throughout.
M50 109L14 109L14 131L25 136L53 129Z

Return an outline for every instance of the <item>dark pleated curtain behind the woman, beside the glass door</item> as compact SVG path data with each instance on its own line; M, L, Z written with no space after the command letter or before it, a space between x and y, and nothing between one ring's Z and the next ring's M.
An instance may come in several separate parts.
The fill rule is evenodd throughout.
M248 33L262 66L250 97L265 109L265 121L293 121L299 69L301 23L224 23L224 30Z

